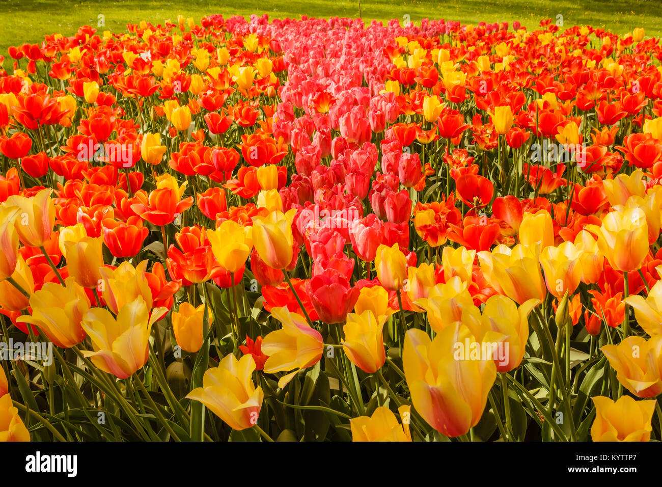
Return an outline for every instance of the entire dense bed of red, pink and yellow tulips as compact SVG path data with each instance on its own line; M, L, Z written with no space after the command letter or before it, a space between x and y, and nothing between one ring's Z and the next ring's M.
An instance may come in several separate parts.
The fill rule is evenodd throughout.
M9 56L0 441L662 439L643 30L213 15Z

